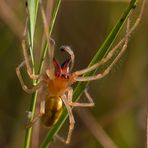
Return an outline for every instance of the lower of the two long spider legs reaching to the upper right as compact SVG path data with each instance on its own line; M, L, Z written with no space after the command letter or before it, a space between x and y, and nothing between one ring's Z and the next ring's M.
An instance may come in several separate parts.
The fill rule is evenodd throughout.
M120 52L115 57L113 62L102 73L99 73L99 74L97 74L95 76L77 77L76 81L92 81L92 80L97 80L97 79L101 79L101 78L105 77L111 71L112 67L116 64L116 62L120 59L120 57L122 56L122 54L126 50L127 44L128 44L128 37L129 37L129 35L127 33L129 33L129 19L127 21L127 30L126 30L124 45L122 46Z

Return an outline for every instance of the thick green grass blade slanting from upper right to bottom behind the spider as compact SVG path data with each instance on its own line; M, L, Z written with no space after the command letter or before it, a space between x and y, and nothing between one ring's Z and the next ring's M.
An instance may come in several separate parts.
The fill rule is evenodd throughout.
M128 7L124 11L124 13L120 17L120 19L117 21L116 25L113 27L110 34L107 36L106 40L104 41L104 43L102 44L102 46L100 47L98 52L95 54L94 58L92 59L92 61L89 64L89 66L93 65L97 61L101 60L103 58L103 56L109 51L109 49L110 49L111 45L113 44L114 40L116 39L118 33L122 29L123 24L125 23L128 15L131 13L132 9L135 8L135 6L136 6L136 0L131 0L130 4L128 5ZM94 72L90 72L87 75L93 75L93 74L94 74ZM79 82L78 83L77 87L74 90L73 101L77 101L80 98L80 96L83 93L87 84L88 84L88 82ZM66 111L66 109L64 109L58 122L54 125L53 128L50 129L47 136L43 140L43 142L41 144L41 148L46 148L48 146L48 144L53 140L54 135L56 135L58 133L58 131L60 130L60 128L62 127L62 125L65 122L65 120L67 119L67 117L68 117L67 111Z

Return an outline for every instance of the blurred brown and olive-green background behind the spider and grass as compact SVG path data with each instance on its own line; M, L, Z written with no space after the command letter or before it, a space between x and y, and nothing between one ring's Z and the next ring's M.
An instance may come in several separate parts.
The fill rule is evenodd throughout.
M65 57L58 48L60 45L70 45L76 55L74 70L86 67L128 2L127 0L64 0L52 34L56 42L56 57L63 60ZM132 15L132 22L138 15L139 6L140 3ZM89 92L94 99L95 107L73 110L76 125L70 145L65 146L55 140L50 147L102 148L101 138L118 148L146 147L147 8L148 3L145 5L140 25L130 37L126 53L111 73L101 80L90 83ZM25 111L29 108L31 96L22 90L15 68L23 60L21 37L25 18L24 0L0 1L0 147L2 148L22 148L24 144ZM37 24L34 56L38 59L43 31L40 14ZM124 31L118 36L118 41L122 35ZM25 80L29 83L28 78ZM68 122L60 135L66 137L67 127ZM37 139L33 143L38 143Z

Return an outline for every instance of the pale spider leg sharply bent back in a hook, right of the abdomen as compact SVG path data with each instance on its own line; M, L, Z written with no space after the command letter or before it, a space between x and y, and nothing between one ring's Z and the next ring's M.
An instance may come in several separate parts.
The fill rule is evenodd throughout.
M69 105L72 107L93 107L94 102L90 94L88 93L87 89L84 90L85 96L88 99L88 103L80 103L80 102L72 102L72 96L73 96L73 89L69 87L68 91L68 102Z

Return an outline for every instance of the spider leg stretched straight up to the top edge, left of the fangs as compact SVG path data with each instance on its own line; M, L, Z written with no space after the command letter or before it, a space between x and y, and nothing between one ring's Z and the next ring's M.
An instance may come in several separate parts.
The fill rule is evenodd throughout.
M55 42L49 35L48 21L47 21L47 18L46 18L46 13L45 13L44 8L43 8L42 0L39 0L39 3L40 3L42 20L43 20L44 32L45 32L45 36L46 36L46 40L47 40L47 46L48 46L48 49L49 49L49 70L50 70L50 73L48 71L48 74L50 76L50 79L54 79L55 78L55 76L54 76L55 68L54 68L54 64L53 64L53 58L54 58Z

